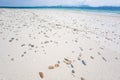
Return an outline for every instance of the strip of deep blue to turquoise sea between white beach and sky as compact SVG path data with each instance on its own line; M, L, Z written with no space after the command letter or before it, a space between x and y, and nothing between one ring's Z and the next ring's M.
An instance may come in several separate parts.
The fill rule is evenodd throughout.
M77 11L87 11L87 12L97 12L97 13L115 13L120 14L120 7L1 7L10 9L59 9L59 10L77 10Z

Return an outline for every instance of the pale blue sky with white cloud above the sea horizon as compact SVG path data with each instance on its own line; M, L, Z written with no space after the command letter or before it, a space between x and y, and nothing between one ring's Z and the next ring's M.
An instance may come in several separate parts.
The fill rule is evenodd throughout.
M0 0L0 6L120 6L120 0Z

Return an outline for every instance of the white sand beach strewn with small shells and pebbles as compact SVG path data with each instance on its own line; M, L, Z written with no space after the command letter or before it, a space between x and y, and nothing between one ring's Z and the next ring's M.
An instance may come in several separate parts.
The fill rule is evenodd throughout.
M120 15L0 9L0 80L120 80Z

